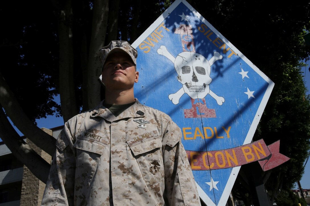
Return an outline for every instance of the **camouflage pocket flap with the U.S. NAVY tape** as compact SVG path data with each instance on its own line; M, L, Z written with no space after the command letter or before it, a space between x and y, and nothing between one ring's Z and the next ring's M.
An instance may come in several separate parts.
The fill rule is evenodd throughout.
M128 139L127 143L135 156L162 147L162 139L156 130Z

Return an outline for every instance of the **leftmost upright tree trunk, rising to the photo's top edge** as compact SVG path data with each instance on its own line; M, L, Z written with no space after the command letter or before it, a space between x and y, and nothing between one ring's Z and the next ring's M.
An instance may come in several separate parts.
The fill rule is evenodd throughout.
M59 93L64 122L78 114L73 76L72 5L65 2L60 9L59 34Z

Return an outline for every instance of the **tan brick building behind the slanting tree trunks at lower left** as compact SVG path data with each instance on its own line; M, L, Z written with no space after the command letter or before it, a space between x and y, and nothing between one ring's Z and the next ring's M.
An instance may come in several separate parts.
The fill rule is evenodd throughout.
M42 128L55 139L63 126ZM24 141L47 162L51 156L42 151L29 139ZM36 178L27 167L18 161L7 146L0 142L0 206L39 206L45 184Z

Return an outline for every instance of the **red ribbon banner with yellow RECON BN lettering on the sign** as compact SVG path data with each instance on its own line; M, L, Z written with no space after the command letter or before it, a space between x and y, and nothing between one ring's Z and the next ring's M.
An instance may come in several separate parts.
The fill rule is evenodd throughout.
M263 171L270 170L290 158L279 153L280 140L266 145L263 139L250 144L219 151L186 151L192 170L217 170L259 161Z

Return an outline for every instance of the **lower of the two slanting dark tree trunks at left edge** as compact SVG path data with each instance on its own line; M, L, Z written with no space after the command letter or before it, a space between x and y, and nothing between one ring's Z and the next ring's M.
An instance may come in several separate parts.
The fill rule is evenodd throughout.
M1 104L0 108L0 136L4 144L20 162L28 167L34 176L46 183L51 165L34 152L20 135L17 134L4 114ZM45 140L42 142L45 142Z

